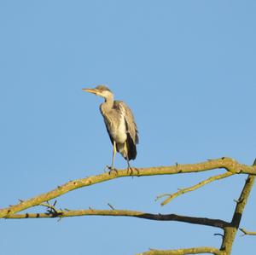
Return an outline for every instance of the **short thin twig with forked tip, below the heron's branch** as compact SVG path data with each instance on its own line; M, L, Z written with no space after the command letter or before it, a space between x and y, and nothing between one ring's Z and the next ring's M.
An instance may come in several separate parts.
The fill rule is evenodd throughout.
M181 194L185 194L187 192L190 191L194 191L197 188L201 188L202 186L208 184L208 183L212 183L214 181L226 178L226 177L230 177L234 175L234 173L227 171L224 174L220 174L218 176L214 176L214 177L209 177L206 180L195 184L194 186L191 186L189 188L180 188L176 193L173 194L161 194L159 196L157 196L156 200L159 200L160 198L164 197L164 196L168 196L168 198L166 200L164 200L163 202L161 202L161 206L165 206L167 203L171 202L171 200L175 199L177 196L181 195Z

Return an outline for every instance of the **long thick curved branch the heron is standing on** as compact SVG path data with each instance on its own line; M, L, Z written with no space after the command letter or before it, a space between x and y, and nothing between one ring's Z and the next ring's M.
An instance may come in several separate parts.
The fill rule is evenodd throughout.
M171 165L171 166L160 166L160 167L148 167L148 168L137 168L137 171L127 171L119 170L115 174L102 173L94 177L86 177L84 179L78 179L75 181L70 181L61 186L58 186L52 191L33 197L30 200L20 200L20 203L15 206L9 206L7 208L0 209L0 218L10 216L16 212L21 212L30 208L32 206L38 206L45 201L55 199L56 197L66 194L77 188L82 188L85 186L90 186L96 183L107 182L114 178L119 177L143 177L143 176L154 176L154 175L167 175L167 174L177 174L177 173L191 173L199 171L209 171L212 169L224 168L231 173L250 173L256 174L256 166L241 165L234 159L221 158L221 159L211 159L206 162L197 164L187 164L187 165Z

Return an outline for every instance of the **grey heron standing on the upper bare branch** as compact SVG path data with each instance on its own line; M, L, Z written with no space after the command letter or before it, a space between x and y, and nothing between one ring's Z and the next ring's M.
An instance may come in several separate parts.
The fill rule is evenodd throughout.
M110 171L114 168L116 152L121 154L127 161L128 171L132 168L131 159L137 157L137 144L139 142L137 125L131 109L124 101L113 100L113 92L105 85L98 85L94 89L82 89L84 91L102 96L104 102L100 105L100 111L104 119L108 136L113 144L112 164L107 166Z

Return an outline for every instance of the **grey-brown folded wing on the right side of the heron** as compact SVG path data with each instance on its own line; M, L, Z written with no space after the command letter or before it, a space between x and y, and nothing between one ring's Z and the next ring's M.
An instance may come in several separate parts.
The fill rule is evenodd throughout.
M126 132L130 134L134 144L139 142L138 130L131 109L123 101L114 101L114 107L118 108L125 117Z

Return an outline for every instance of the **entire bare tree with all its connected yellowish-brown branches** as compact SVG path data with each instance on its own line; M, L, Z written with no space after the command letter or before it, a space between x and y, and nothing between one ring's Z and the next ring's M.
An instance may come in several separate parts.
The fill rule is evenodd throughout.
M146 212L137 212L129 210L116 210L113 206L108 204L111 210L94 210L89 208L89 210L67 210L67 209L56 209L55 204L49 204L49 200L52 200L56 197L66 194L74 189L83 188L86 186L94 185L96 183L107 182L114 178L119 177L143 177L143 176L154 176L154 175L171 175L178 173L191 173L191 172L200 172L200 171L209 171L212 169L223 168L227 172L220 174L214 177L209 177L201 183L196 185L183 188L175 194L169 195L169 197L162 202L166 204L173 198L177 197L180 194L184 194L189 191L193 191L196 188L201 188L207 183L212 183L215 180L219 180L225 177L230 177L234 174L249 174L247 181L244 185L244 188L241 191L239 200L236 201L236 210L234 212L232 221L230 223L225 222L219 219L211 219L206 217L188 217L180 216L176 214L152 214ZM168 254L168 255L183 255L183 254L199 254L199 253L212 253L216 255L230 255L233 242L236 237L237 229L239 228L241 222L241 215L244 211L244 208L247 204L248 196L253 188L253 183L256 176L256 160L253 163L253 166L241 165L236 160L230 158L221 158L221 159L211 159L206 162L201 162L198 164L187 164L187 165L171 165L171 166L160 166L160 167L149 167L149 168L140 168L137 171L127 171L119 170L112 171L111 173L102 173L93 177L86 177L83 179L78 179L75 181L70 181L61 186L58 186L52 191L49 191L44 194L40 194L36 197L33 197L29 200L19 200L20 203L15 206L9 206L7 208L0 209L0 218L12 218L12 219L21 219L21 218L50 218L50 217L76 217L76 216L115 216L115 217L140 217L149 220L159 220L159 221L178 221L183 223L194 223L201 224L206 226L211 226L215 228L224 229L223 241L220 247L220 250L214 247L194 247L194 248L184 248L177 250L161 251L161 250L150 250L148 252L143 252L143 255L158 255L158 254ZM47 212L44 213L23 213L17 214L17 212L24 211L32 206L44 206L47 208ZM245 235L256 235L255 232L250 232L245 229L241 229Z

